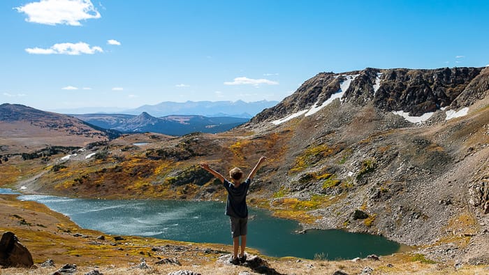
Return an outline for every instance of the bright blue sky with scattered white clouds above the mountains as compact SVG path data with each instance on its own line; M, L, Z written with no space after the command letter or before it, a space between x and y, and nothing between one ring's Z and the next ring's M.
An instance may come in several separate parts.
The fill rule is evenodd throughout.
M489 64L489 1L2 0L0 103L281 101L316 73Z

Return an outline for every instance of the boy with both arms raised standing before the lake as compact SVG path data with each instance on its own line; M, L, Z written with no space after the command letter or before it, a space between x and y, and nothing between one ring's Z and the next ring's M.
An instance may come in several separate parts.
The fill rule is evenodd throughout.
M246 235L247 235L247 223L248 223L248 207L246 205L246 195L251 184L251 179L253 179L256 171L265 157L262 156L255 167L249 173L247 179L241 182L243 172L240 168L233 168L229 171L229 177L231 181L225 179L219 172L212 170L207 163L200 163L200 167L210 172L217 177L223 184L224 188L228 191L228 201L226 202L226 215L229 216L231 222L231 234L233 235L233 258L231 262L233 265L238 265L240 262L243 263L246 260L245 247L246 247ZM241 236L241 253L238 258L238 248L240 246L240 236Z

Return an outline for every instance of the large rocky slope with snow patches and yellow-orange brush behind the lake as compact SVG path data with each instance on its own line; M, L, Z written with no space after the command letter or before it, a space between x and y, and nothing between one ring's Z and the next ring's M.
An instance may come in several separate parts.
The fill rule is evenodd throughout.
M224 200L198 163L246 173L261 155L251 205L305 228L384 235L451 266L489 264L489 68L319 73L225 133L126 135L0 172L30 193ZM31 171L18 179L20 166Z

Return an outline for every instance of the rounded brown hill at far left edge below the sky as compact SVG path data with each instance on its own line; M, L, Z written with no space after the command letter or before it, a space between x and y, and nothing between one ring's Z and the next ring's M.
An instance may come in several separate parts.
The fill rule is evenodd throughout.
M84 147L119 135L64 114L8 103L0 105L0 128L0 154L31 152L50 145Z

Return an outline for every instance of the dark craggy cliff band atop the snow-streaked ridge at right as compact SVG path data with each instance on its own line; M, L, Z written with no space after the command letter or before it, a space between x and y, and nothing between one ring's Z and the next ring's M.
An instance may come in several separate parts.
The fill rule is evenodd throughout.
M349 73L319 73L275 107L257 114L251 123L279 119L321 105L340 91L347 75L354 76L354 80L343 91L342 101L356 105L372 101L379 110L402 110L411 116L449 105L454 108L470 105L487 96L489 89L489 69L483 68L365 68Z

